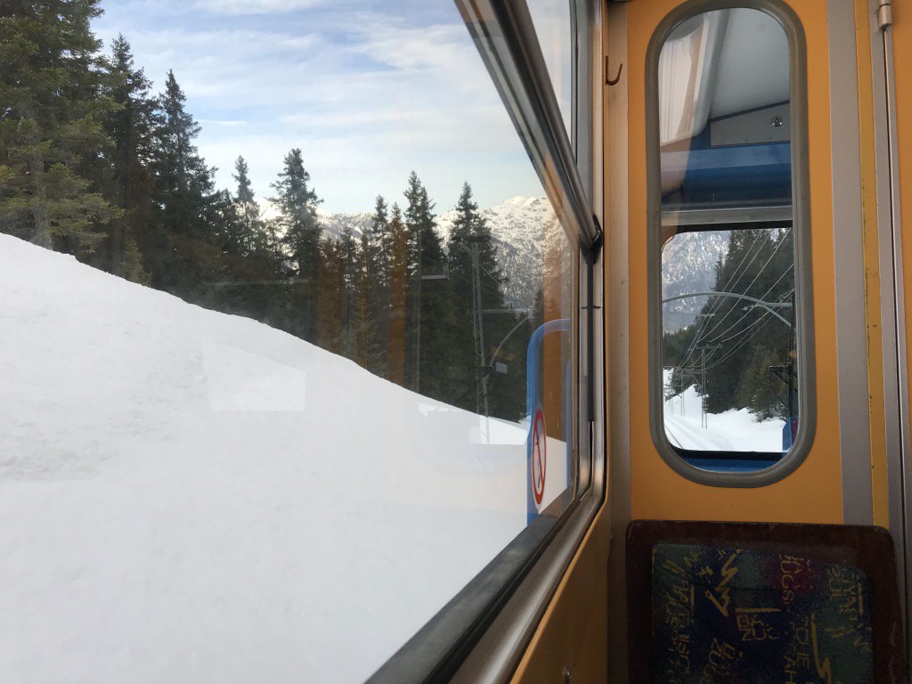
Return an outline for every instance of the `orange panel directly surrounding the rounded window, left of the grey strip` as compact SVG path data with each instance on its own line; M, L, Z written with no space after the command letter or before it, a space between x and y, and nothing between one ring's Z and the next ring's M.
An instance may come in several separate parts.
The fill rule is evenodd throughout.
M817 421L802 466L767 487L727 489L681 477L658 455L649 432L647 325L647 160L645 73L649 40L676 0L627 7L629 88L631 501L636 518L842 523L834 325L833 196L826 0L793 3L807 40L811 232Z

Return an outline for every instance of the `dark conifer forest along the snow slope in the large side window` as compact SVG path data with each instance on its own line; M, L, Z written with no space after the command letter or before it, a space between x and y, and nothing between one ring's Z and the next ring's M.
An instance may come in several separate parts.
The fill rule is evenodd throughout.
M177 76L156 92L124 36L103 47L93 34L100 13L98 0L0 10L0 232L249 316L423 395L523 416L525 343L542 311L525 326L528 312L505 304L468 182L448 202L448 244L416 172L401 198L376 198L363 234L324 231L297 147L271 197L255 196L244 150L233 187L218 188Z

